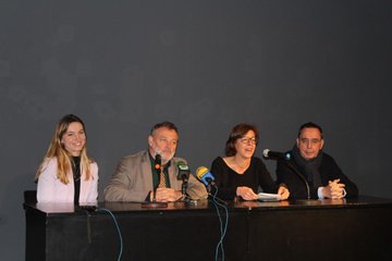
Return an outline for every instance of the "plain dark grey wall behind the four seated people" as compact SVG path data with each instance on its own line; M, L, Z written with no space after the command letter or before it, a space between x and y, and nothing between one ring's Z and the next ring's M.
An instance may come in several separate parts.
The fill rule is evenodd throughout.
M118 160L163 120L193 169L222 154L236 123L259 127L260 156L317 122L360 192L392 197L391 11L388 0L2 0L0 260L24 259L23 190L66 113L86 123L100 199Z

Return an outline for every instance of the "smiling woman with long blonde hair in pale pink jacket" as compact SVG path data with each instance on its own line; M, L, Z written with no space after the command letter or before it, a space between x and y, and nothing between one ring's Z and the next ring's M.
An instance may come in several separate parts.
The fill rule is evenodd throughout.
M64 115L36 173L38 202L96 203L98 165L87 157L83 121Z

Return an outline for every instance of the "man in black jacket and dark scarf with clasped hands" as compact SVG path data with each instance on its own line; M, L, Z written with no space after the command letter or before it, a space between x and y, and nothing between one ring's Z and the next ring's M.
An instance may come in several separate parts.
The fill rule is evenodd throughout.
M291 198L344 198L358 196L357 186L343 174L333 158L322 151L322 129L315 123L299 127L290 160L279 160L278 183Z

